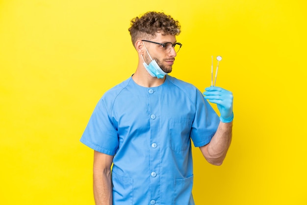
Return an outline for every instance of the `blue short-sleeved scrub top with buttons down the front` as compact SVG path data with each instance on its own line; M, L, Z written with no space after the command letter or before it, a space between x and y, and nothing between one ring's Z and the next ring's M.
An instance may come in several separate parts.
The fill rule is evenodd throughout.
M102 96L80 141L114 155L113 205L194 205L191 139L206 145L219 122L195 86L129 77Z

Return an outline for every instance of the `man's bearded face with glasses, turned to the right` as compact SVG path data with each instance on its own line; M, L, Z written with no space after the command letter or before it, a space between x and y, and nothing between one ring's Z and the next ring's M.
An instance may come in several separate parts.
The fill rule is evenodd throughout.
M174 44L176 43L176 37L175 35L161 35L161 33L157 33L153 39L150 39L150 41L157 43L171 42ZM144 44L151 57L157 62L162 71L164 71L165 73L171 73L175 57L177 55L176 51L172 49L172 51L166 53L164 52L164 48L161 45L150 42L144 42ZM151 62L151 59L147 52L145 52L144 58L147 64Z

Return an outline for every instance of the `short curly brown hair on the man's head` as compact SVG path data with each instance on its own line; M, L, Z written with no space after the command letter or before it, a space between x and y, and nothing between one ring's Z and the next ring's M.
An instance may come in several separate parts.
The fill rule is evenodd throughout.
M152 39L156 33L162 35L179 35L180 25L177 20L163 12L150 11L131 20L129 27L133 46L139 39Z

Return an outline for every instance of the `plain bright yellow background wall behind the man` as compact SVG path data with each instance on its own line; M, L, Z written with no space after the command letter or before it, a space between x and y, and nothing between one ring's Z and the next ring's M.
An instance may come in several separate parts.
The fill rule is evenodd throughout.
M222 55L234 94L224 164L193 148L196 204L306 205L305 0L0 0L0 204L94 204L79 138L135 71L129 21L149 10L181 23L172 76L204 91Z

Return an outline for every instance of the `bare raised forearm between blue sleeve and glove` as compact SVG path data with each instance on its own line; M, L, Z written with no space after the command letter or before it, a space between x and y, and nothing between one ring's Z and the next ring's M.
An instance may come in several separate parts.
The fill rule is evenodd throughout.
M226 157L228 148L230 147L232 135L232 122L220 122L211 141L200 147L205 159L213 165L221 165Z

